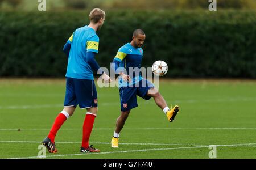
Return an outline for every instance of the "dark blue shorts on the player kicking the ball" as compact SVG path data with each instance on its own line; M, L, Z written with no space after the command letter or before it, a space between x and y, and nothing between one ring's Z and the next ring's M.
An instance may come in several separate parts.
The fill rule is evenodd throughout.
M152 87L154 87L154 84L146 79L142 79L137 84L134 84L133 87L120 87L121 111L129 111L132 108L138 107L137 96L150 100L151 96L147 95L147 91Z

